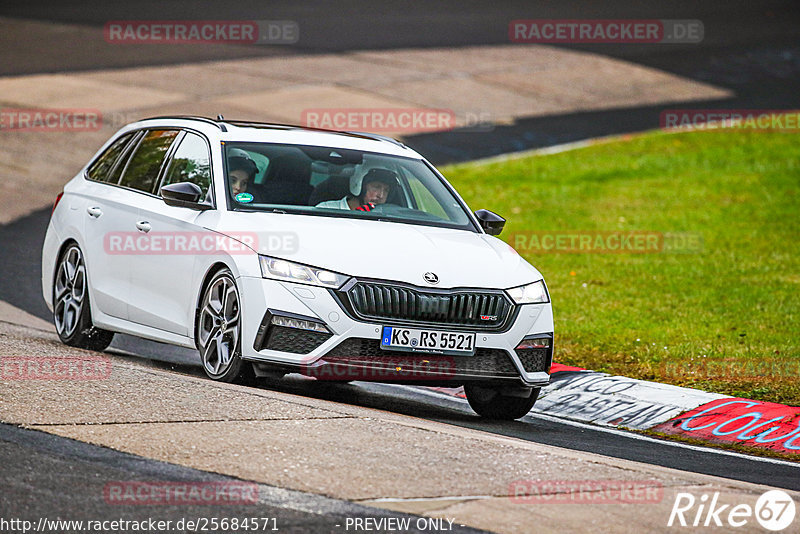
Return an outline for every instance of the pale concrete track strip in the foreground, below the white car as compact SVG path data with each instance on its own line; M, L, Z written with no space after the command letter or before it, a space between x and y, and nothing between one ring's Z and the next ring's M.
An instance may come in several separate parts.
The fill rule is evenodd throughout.
M22 358L108 358L86 380L20 379ZM765 486L679 472L370 408L217 384L115 354L61 345L0 323L0 421L192 469L346 499L494 532L665 528L676 492L753 503ZM28 375L31 378L31 375ZM617 481L660 487L635 505L519 502L515 481ZM548 490L555 491L558 490ZM585 498L585 497L584 497ZM565 515L565 506L572 507ZM583 527L581 527L583 525ZM744 531L754 531L744 529Z

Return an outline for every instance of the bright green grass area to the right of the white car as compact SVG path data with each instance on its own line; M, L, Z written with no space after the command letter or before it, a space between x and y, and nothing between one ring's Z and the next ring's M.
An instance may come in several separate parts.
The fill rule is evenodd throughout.
M800 406L800 136L654 132L445 175L524 232L699 234L696 253L520 253L556 361ZM513 244L513 243L512 243Z

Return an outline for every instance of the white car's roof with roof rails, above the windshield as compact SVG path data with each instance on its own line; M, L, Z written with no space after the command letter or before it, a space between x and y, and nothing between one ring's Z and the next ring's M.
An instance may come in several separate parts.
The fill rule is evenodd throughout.
M324 146L422 159L422 156L400 141L384 135L368 132L324 130L293 124L225 120L222 118L215 120L208 117L195 116L163 116L141 119L127 125L123 130L163 127L192 128L205 133L209 137L216 137L225 142Z

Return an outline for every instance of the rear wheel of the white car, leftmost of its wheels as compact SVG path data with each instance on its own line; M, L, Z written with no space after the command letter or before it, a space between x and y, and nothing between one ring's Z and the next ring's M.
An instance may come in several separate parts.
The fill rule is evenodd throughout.
M76 243L58 257L53 277L53 323L61 342L70 347L102 351L114 339L114 332L92 324L86 263Z

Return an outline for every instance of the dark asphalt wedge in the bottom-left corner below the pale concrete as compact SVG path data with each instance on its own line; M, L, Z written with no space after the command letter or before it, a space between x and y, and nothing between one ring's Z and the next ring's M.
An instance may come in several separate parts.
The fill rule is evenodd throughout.
M255 460L254 460L255 461ZM222 498L208 505L171 504L161 506L120 505L106 499L107 483L186 484L190 487L237 486L246 482L236 478L198 471L188 467L144 459L132 454L89 445L80 441L0 424L0 517L22 519L38 524L41 518L87 521L120 519L127 521L202 521L201 518L259 518L259 531L343 532L348 518L410 518L408 532L418 516L390 512L347 501L257 484L257 502L228 504ZM216 486L219 485L219 486ZM241 487L241 486L239 486ZM246 495L256 493L247 486ZM267 519L265 522L264 519ZM272 521L274 519L274 521ZM269 528L261 528L267 525ZM50 528L40 531L57 530ZM77 531L79 529L62 529ZM122 529L130 530L130 529ZM155 532L155 529L143 529ZM163 529L162 529L163 530ZM177 529L173 528L172 531ZM183 529L196 531L199 529ZM215 531L218 529L212 529ZM232 529L237 530L237 529ZM251 529L252 530L252 529ZM12 530L13 531L13 530ZM112 529L103 529L111 532ZM484 532L453 524L453 532Z

